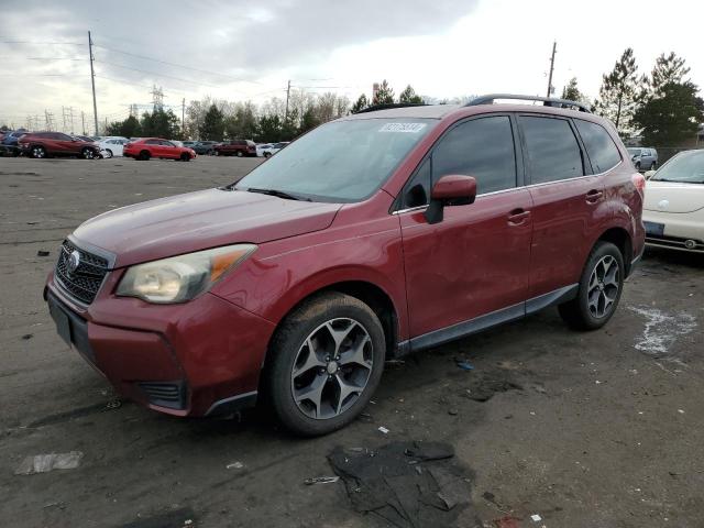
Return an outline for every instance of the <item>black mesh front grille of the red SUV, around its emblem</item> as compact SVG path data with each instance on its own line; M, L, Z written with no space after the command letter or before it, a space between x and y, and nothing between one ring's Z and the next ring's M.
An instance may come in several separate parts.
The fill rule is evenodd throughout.
M80 255L78 267L69 272L69 258L75 251ZM55 277L58 284L73 297L89 305L96 298L100 285L108 273L108 260L77 248L68 240L62 245L56 263Z

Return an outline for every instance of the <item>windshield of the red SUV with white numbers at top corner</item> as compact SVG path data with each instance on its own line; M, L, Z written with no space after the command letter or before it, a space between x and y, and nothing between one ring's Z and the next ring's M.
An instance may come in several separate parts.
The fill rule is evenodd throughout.
M355 119L318 127L237 184L315 201L351 202L376 191L428 133L431 119Z

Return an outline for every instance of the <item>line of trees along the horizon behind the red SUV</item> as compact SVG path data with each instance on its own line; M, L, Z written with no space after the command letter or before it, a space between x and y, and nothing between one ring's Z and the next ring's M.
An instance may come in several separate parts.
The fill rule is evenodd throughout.
M690 68L682 57L664 53L656 59L649 75L639 75L632 48L627 48L614 68L604 74L598 97L591 102L572 78L562 90L562 98L590 105L592 111L609 119L623 138L642 133L644 144L679 146L696 134L704 121L704 101L698 87L686 78ZM405 103L459 102L437 101L421 97L408 85L396 97L384 79L370 99L362 94L354 103L333 92L315 95L292 90L288 103L273 97L256 106L251 101L231 102L205 98L190 101L186 122L180 123L172 110L155 107L141 117L110 123L108 135L161 136L222 141L246 139L256 142L290 141L327 121L356 113L370 106Z

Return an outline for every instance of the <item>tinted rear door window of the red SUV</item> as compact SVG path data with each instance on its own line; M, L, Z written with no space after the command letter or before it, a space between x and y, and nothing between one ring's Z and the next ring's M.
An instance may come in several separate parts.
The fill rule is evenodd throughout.
M522 116L532 184L584 176L582 154L569 121Z

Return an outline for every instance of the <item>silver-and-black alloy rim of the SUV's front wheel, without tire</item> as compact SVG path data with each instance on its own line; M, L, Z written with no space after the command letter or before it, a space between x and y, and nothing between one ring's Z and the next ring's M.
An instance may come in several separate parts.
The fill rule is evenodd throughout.
M304 341L292 369L298 409L319 420L345 413L366 387L373 366L367 330L354 319L331 319Z

